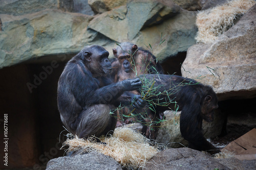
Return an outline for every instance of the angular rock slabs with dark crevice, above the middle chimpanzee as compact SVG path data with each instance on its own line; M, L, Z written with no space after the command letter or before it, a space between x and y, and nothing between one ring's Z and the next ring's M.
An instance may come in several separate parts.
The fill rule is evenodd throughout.
M118 42L130 41L144 48L150 43L154 55L164 60L196 43L196 14L182 10L172 2L132 1L127 7L121 6L96 16L88 28ZM166 36L159 45L161 34Z

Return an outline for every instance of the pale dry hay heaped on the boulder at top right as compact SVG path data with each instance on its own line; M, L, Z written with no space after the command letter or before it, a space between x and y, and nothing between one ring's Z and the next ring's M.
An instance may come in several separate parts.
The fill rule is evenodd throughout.
M234 19L242 16L255 4L254 0L233 0L222 6L199 12L196 21L197 42L208 43L216 40L233 26Z

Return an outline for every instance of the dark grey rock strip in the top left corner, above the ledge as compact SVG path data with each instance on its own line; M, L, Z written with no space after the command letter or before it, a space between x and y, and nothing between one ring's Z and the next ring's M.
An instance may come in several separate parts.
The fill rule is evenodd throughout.
M73 0L8 0L0 1L0 14L22 15L45 9L59 9L72 12Z

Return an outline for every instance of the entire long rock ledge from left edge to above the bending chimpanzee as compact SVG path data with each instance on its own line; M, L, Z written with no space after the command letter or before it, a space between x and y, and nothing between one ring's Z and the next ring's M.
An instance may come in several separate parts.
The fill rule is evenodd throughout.
M8 5L12 3L6 6L11 11ZM76 54L91 44L102 45L114 57L115 41L131 41L144 48L150 43L154 55L165 59L196 43L197 12L183 10L169 1L129 1L95 16L49 6L35 13L17 14L0 14L0 68L32 58ZM161 34L165 41L158 47Z

